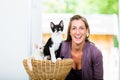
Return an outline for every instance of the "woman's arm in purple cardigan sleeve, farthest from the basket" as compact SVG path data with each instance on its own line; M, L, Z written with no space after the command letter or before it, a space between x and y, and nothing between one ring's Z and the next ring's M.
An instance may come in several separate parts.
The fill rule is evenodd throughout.
M103 56L99 49L95 49L92 59L93 64L93 79L103 80Z

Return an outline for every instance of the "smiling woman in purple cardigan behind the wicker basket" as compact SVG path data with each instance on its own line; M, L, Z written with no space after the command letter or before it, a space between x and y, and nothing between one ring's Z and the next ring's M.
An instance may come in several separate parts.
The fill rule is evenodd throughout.
M65 80L103 80L102 53L89 41L89 35L87 20L80 15L71 17L61 56L72 58L74 63Z

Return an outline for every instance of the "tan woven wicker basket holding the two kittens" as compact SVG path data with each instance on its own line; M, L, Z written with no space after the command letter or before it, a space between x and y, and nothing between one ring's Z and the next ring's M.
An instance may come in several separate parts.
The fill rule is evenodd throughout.
M69 73L73 60L57 60L56 63L50 60L31 59L32 70L29 69L27 59L23 60L23 65L31 80L65 80Z

